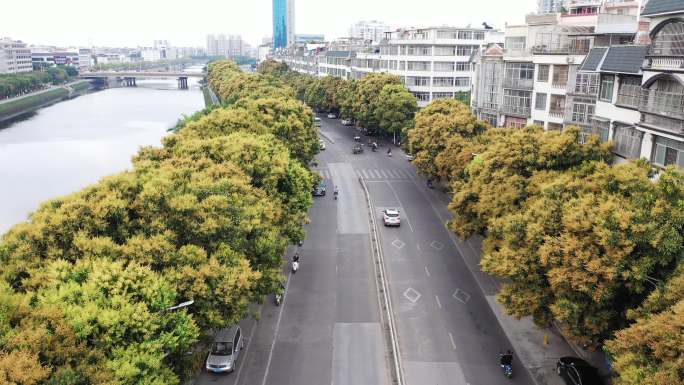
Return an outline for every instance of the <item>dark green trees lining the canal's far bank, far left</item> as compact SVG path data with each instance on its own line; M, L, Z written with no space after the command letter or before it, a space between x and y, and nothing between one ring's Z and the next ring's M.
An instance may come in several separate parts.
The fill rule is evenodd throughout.
M0 75L0 99L13 98L47 88L51 84L62 84L70 76L78 75L75 68L57 66L43 71Z

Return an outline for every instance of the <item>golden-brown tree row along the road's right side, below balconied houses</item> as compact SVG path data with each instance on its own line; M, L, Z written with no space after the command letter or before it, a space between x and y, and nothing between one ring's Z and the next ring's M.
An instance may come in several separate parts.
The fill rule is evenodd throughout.
M684 174L611 165L579 130L491 128L458 101L418 112L408 145L447 182L450 228L483 234L509 314L603 346L617 384L684 383Z

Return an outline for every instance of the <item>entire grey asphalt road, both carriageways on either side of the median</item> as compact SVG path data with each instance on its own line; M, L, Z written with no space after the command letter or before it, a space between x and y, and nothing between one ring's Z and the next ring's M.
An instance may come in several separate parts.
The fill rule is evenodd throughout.
M397 147L391 158L388 144L353 155L354 129L322 120L327 149L318 171L328 195L310 211L300 271L290 275L280 307L269 299L259 322L243 322L248 341L236 372L204 374L198 383L389 384L363 178L381 226L406 384L532 384L519 361L510 380L498 366L499 351L511 345L487 304L494 289L485 275L475 279L477 267L466 265L446 230L444 195L427 189ZM390 207L399 208L401 227L382 226L381 211Z

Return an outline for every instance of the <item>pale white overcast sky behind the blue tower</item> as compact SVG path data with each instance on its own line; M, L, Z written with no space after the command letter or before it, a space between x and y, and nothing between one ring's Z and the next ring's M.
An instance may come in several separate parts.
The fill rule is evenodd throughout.
M0 0L0 37L60 46L204 46L208 33L271 35L272 0ZM297 33L344 36L359 20L395 27L519 24L536 0L295 0Z

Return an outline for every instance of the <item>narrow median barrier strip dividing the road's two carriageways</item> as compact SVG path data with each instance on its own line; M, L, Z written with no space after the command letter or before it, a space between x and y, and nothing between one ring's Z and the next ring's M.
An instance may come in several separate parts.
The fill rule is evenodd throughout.
M385 271L385 260L382 254L382 248L380 247L380 241L378 240L378 228L375 223L375 216L373 215L373 204L371 202L370 193L368 192L368 187L363 181L363 178L359 178L359 183L363 188L363 193L366 196L366 204L368 206L369 215L369 225L371 227L371 232L369 234L371 241L371 254L373 255L374 263L373 269L375 270L375 282L378 288L378 300L381 310L384 310L385 317L384 323L386 325L386 335L389 337L390 354L391 361L394 366L394 370L391 373L392 383L397 385L404 385L404 370L401 365L401 352L399 349L399 338L397 336L396 322L394 320L394 311L392 310L392 299L389 294L389 284L387 283L387 273Z

